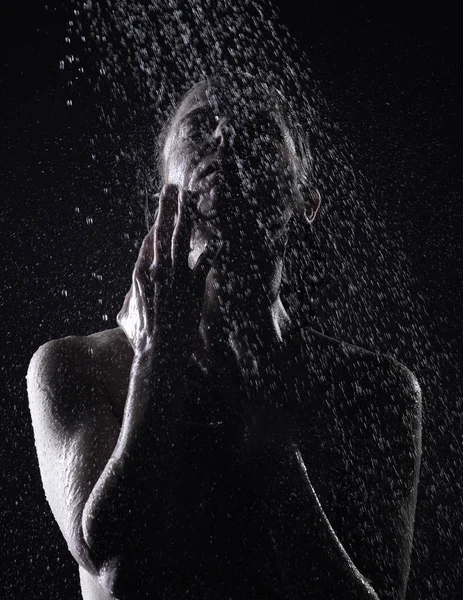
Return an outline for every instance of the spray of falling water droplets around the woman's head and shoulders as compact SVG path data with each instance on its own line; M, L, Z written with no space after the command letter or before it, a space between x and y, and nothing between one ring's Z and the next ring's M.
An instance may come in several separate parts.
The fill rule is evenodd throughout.
M349 140L348 128L330 116L310 56L298 48L271 4L74 0L72 13L69 53L61 62L72 84L66 104L69 110L78 107L81 86L97 90L98 123L89 136L87 160L111 173L91 214L82 213L78 194L71 198L74 216L79 227L102 237L105 211L122 220L119 239L108 240L98 256L87 258L86 289L79 296L62 287L63 301L76 302L83 315L85 307L88 313L96 307L100 328L114 326L144 235L144 207L160 187L156 156L162 126L192 84L217 72L246 71L280 89L310 134L313 184L322 208L304 239L306 253L294 257L293 269L303 274L299 308L316 329L394 356L417 374L424 390L442 395L439 373L447 364L446 348L436 349L431 330L423 329L426 307L415 291L400 232L391 235L383 218L380 183L360 172L359 148ZM111 253L113 244L132 254L126 272L110 267L106 273L101 266L103 252ZM114 298L109 306L102 298L106 294ZM432 449L431 444L428 452ZM425 462L422 485L434 477ZM427 502L432 504L429 494ZM420 571L429 547L419 510L411 585L418 589L416 582L424 580L421 589L427 589L433 584L432 575ZM412 588L410 598L414 594Z

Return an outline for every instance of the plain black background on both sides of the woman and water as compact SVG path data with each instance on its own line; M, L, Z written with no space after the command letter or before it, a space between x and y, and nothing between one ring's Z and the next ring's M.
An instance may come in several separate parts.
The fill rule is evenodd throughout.
M364 150L359 166L381 184L388 227L399 230L416 281L411 289L425 301L423 327L441 356L440 383L431 388L441 393L424 398L409 598L459 598L461 15L443 4L413 11L390 3L280 4L334 117ZM66 3L37 1L27 8L8 3L0 17L4 598L79 597L76 569L40 486L24 378L39 344L97 331L108 326L106 318L113 322L135 256L134 230L143 229L137 206L132 215L122 196L111 200L118 182L110 180L104 159L92 163L87 140L97 127L98 94L85 81L70 94L59 67L68 52L70 13ZM74 186L81 201L69 194ZM127 231L121 219L132 219ZM96 239L103 230L111 237L109 257ZM86 302L79 296L83 282Z

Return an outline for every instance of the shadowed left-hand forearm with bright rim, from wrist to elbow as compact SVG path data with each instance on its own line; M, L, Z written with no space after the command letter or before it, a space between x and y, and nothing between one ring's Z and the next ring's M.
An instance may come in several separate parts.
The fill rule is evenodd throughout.
M119 438L82 515L84 539L97 564L120 553L148 518L156 519L156 508L169 504L167 475L175 470L179 450L182 394L174 381L183 381L174 369L154 353L133 361Z

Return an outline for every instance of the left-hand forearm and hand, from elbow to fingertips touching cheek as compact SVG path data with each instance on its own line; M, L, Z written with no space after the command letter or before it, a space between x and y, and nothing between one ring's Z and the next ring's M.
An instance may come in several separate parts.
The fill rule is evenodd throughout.
M186 371L218 249L208 244L190 269L190 204L196 200L173 184L163 187L118 315L136 358L117 443L83 510L83 536L99 564L136 544L148 529L149 544L160 541L158 530L161 536L166 530L161 523L177 522L182 510L176 506L172 514L171 498L174 486L187 485L182 446L188 432L180 418Z

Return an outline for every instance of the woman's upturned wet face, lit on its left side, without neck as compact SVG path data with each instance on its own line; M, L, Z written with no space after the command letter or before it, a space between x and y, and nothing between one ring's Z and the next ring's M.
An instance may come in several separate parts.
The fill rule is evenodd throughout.
M198 197L198 253L218 231L240 245L278 237L293 212L294 143L272 112L196 87L174 116L164 146L164 181Z

